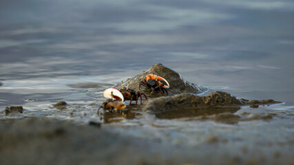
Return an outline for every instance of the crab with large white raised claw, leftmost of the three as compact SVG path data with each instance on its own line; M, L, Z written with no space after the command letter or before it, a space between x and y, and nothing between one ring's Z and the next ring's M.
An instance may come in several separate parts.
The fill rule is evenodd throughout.
M103 96L108 98L99 107L98 111L103 108L104 111L122 111L125 109L125 102L123 102L123 94L116 88L108 88L103 92Z

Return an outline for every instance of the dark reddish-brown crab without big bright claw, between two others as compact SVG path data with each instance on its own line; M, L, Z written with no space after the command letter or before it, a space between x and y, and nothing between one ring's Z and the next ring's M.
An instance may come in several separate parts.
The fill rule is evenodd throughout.
M121 88L119 91L121 94L123 94L123 97L125 100L131 100L129 104L132 103L132 100L136 100L136 104L138 102L138 98L140 97L141 103L142 103L142 95L145 96L145 99L147 99L147 96L144 93L141 93L140 91L135 91L134 89L129 89L129 82L127 82L127 88L123 87L123 81L121 81Z

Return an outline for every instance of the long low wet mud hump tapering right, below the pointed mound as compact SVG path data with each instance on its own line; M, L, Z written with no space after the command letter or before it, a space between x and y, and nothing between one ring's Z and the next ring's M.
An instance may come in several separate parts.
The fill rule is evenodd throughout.
M145 104L143 110L155 113L158 118L180 118L216 113L235 113L244 105L276 104L275 100L238 99L223 91L216 91L207 96L179 94L154 98Z

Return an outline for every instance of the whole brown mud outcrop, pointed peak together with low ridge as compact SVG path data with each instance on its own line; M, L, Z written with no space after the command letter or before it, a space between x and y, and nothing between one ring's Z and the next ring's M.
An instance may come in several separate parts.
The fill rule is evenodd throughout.
M162 96L159 92L150 96L150 89L145 89L141 86L140 91L147 94L150 98L148 102L143 104L143 111L151 111L157 118L184 118L184 117L196 117L196 116L209 116L212 120L227 120L227 116L232 117L234 120L247 120L246 115L233 115L236 111L241 109L241 106L248 105L251 108L258 108L259 105L264 104L276 104L280 103L272 99L268 100L246 100L244 98L235 98L223 91L216 91L208 94L207 96L196 96L196 94L207 91L206 88L200 87L193 83L187 82L180 74L174 72L172 69L165 67L162 64L156 64L143 71L141 74L128 78L124 83L124 87L127 87L129 83L130 89L139 90L140 82L145 79L147 74L157 74L162 76L169 82L169 95ZM121 85L115 86L120 89ZM224 113L224 115L222 115ZM225 113L230 113L227 115ZM220 114L220 115L216 115ZM260 118L263 119L263 115ZM270 118L270 117L269 117ZM231 118L230 118L231 119ZM251 119L251 118L250 118Z

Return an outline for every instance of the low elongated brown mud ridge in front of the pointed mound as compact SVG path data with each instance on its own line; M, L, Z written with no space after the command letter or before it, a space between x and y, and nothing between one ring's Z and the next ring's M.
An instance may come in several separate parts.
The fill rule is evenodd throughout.
M240 107L250 104L274 104L280 103L274 100L246 100L238 99L223 91L216 91L207 96L196 96L193 94L179 94L176 96L167 96L154 98L145 104L143 109L153 113L166 113L167 111L178 111L178 113L186 113L183 111L202 111L199 115L205 115L210 111L217 113L219 108L229 109L231 107ZM203 111L204 109L204 111ZM224 111L221 111L222 113Z

